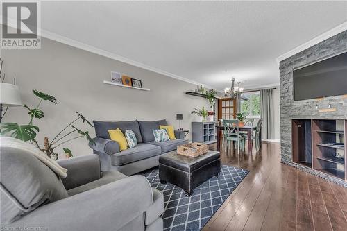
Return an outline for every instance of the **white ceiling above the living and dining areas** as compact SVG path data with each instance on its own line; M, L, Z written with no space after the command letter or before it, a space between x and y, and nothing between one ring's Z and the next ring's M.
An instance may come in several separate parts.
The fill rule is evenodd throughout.
M279 83L276 58L347 21L347 1L45 1L41 27L223 89Z

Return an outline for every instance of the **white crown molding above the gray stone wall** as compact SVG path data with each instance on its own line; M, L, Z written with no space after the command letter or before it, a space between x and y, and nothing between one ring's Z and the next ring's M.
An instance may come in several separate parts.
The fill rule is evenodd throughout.
M327 40L329 37L337 35L343 31L347 31L347 22L339 24L339 26L335 26L334 28L330 29L329 31L326 31L323 34L318 35L317 37L314 37L312 40L305 42L304 44L301 44L300 46L296 46L296 48L292 49L291 51L288 51L288 52L278 56L278 58L276 58L276 62L280 63L280 61L285 60L286 58L289 58L289 57L295 55L296 53L304 51L305 49L310 48L311 46L319 44L319 42L323 42L324 40Z

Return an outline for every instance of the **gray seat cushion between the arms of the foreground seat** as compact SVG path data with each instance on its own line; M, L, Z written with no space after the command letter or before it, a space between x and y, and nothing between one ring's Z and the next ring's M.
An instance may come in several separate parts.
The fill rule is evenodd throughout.
M97 187L109 184L110 182L114 182L116 180L120 180L126 177L127 176L125 176L123 173L120 173L119 171L104 171L103 176L99 180L94 180L85 185L81 185L74 189L70 189L69 191L67 191L67 194L69 194L69 196L81 194L81 192L83 191L95 189Z

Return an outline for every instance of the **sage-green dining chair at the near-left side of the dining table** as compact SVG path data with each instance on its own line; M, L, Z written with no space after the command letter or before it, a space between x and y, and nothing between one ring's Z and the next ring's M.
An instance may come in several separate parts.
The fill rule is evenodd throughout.
M239 120L238 119L223 119L223 135L226 142L226 150L228 142L237 142L237 153L239 153L240 145L242 150L245 149L246 137L242 132L239 132ZM231 144L230 144L231 145Z

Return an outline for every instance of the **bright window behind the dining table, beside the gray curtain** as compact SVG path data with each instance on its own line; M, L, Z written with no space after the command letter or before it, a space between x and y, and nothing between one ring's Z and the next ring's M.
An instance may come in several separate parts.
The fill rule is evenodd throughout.
M260 118L260 92L246 92L241 95L241 112L247 118Z

